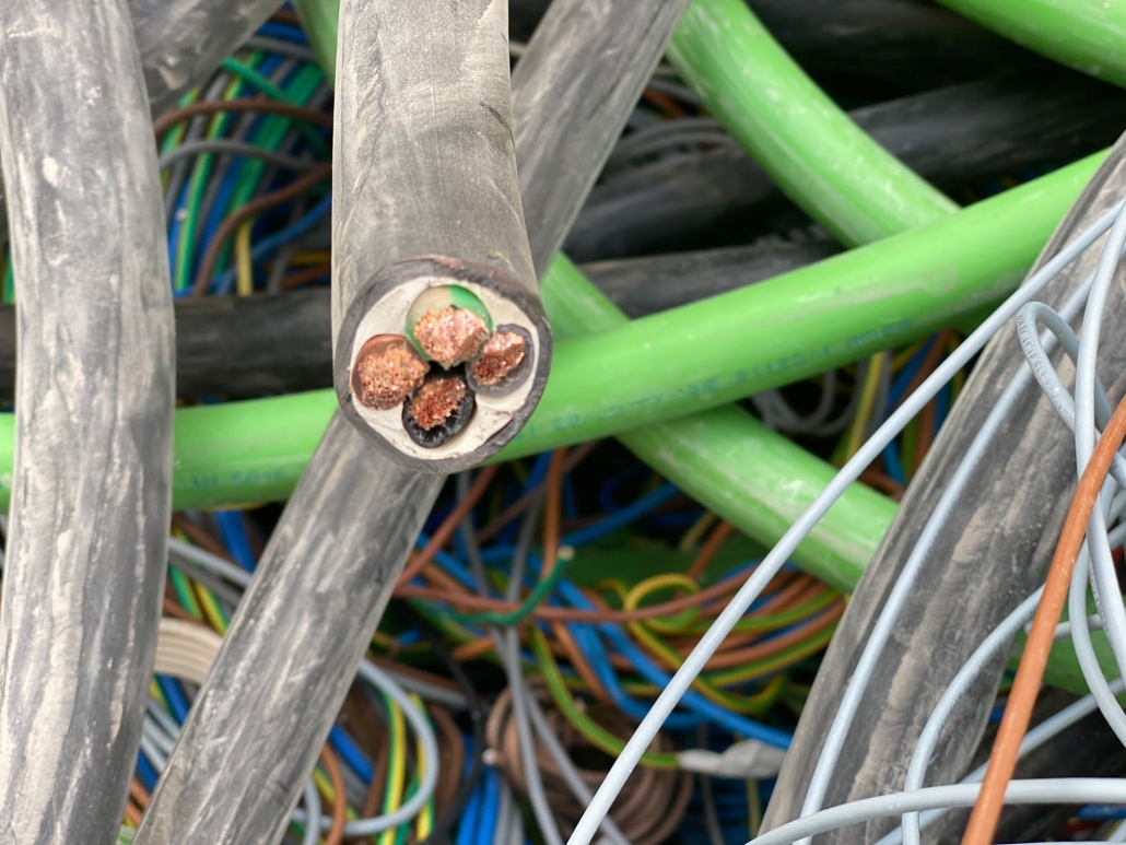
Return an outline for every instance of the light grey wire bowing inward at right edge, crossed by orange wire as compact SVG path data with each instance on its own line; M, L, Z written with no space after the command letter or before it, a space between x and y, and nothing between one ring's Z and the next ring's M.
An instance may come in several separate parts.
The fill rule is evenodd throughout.
M1110 285L1114 283L1115 270L1121 260L1121 251L1126 246L1126 211L1119 212L1110 235L1099 257L1094 270L1094 282L1091 295L1083 314L1082 337L1079 341L1079 359L1075 363L1075 464L1078 474L1087 468L1091 453L1094 451L1096 427L1096 383L1098 382L1099 333L1106 311ZM1108 480L1108 484L1112 481ZM1103 488L1106 491L1107 488ZM1100 497L1100 500L1106 496ZM1102 508L1091 512L1088 528L1088 551L1091 555L1091 584L1094 587L1094 599L1102 616L1103 630L1110 641L1110 650L1118 664L1118 673L1126 675L1126 608L1123 607L1121 593L1115 562L1107 544L1107 526Z

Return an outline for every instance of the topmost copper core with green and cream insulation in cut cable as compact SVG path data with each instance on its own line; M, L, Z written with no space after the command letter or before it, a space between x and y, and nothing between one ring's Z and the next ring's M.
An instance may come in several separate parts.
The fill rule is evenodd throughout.
M473 358L490 333L492 318L484 303L457 285L428 288L406 312L406 337L447 370Z

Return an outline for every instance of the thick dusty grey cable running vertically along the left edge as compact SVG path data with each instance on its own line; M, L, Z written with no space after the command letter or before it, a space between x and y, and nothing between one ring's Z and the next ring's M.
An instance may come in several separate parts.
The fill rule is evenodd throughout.
M157 149L124 0L0 5L0 55L20 356L0 843L111 842L141 741L171 512Z

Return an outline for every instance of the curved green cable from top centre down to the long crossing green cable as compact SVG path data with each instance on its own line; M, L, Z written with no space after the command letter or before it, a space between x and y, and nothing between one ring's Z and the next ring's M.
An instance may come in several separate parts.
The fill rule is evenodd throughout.
M694 0L669 59L751 158L842 243L870 243L957 211L841 112L744 0Z

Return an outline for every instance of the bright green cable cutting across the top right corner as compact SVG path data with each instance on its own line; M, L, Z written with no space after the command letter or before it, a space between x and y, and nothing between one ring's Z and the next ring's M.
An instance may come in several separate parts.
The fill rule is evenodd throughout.
M938 2L1029 50L1126 87L1126 7L1118 0Z

